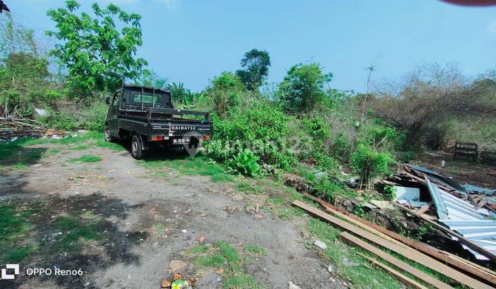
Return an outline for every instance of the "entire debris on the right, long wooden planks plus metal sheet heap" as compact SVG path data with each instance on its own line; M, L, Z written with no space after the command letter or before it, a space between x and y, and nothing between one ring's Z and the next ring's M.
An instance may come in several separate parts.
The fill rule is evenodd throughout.
M446 281L397 259L389 251L439 272L453 283L471 288L496 286L496 272L482 266L490 265L494 268L496 264L496 219L493 219L496 216L493 208L496 202L493 197L495 189L484 189L473 184L462 185L436 171L411 164L404 164L398 173L380 182L395 186L395 202L371 200L371 205L384 210L400 208L407 215L417 218L419 223L431 225L436 235L453 240L450 242L455 242L459 250L447 252L409 239L309 193L304 195L320 204L326 212L300 201L293 202L293 206L340 228L343 231L340 234L343 242L375 256L364 258L406 286L451 288ZM473 256L471 260L479 261L474 263L458 255ZM404 275L404 272L415 278Z

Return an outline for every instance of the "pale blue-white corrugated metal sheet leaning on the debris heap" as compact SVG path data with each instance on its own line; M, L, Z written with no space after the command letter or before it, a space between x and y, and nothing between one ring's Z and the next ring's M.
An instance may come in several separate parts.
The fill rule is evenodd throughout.
M446 193L427 178L426 183L440 217L439 222L496 254L496 221L486 219L484 214L487 211ZM457 240L455 237L453 239ZM477 259L488 259L466 246L463 247L470 250Z

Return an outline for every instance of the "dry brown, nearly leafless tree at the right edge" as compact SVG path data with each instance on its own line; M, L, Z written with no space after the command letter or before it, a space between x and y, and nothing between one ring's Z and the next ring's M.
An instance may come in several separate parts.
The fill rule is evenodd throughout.
M422 65L397 81L384 81L367 108L401 131L406 142L449 149L456 140L444 125L461 122L458 130L470 131L475 120L490 120L496 114L496 83L490 79L475 82L462 76L455 65ZM445 140L449 137L453 143ZM476 140L473 140L475 142Z

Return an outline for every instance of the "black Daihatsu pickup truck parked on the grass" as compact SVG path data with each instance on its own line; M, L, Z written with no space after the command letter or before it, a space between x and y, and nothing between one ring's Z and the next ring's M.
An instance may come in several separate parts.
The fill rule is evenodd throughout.
M209 113L175 109L170 92L163 89L123 85L107 104L105 140L129 138L136 160L152 147L196 149L200 140L211 138Z

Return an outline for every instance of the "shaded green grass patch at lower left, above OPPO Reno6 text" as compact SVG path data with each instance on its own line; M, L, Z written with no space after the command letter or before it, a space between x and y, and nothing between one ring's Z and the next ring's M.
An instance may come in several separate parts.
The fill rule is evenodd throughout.
M52 204L41 200L0 204L0 264L77 254L87 243L104 239L100 224L101 217L92 212L56 215Z

